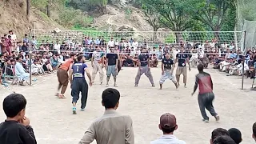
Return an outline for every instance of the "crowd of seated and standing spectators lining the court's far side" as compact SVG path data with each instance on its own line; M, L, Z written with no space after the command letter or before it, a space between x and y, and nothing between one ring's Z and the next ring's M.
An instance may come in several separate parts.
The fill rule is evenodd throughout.
M178 44L164 44L158 42L158 45L148 43L147 40L138 41L135 38L110 38L107 42L105 38L90 38L84 36L78 41L78 38L66 36L66 38L55 41L40 40L32 36L28 38L25 34L22 41L18 41L14 30L9 34L4 34L0 42L1 51L1 74L2 78L18 77L19 84L27 80L27 74L31 66L31 73L42 75L50 74L69 58L71 53L84 54L87 60L90 60L94 50L101 50L102 54L109 53L110 48L114 48L119 53L120 65L136 67L138 66L138 55L141 54L142 47L147 48L150 54L150 67L157 67L166 52L169 52L173 58L178 52L190 54L190 60L194 59L193 54L198 54L196 61L202 61L208 66L208 63L214 63L214 68L228 73L227 75L242 75L242 64L245 63L245 71L248 77L254 78L254 52L248 50L246 61L242 62L241 50L236 50L234 42L218 42L216 39L211 42L178 42ZM40 41L40 42L39 42ZM31 62L30 62L30 50ZM18 59L21 61L18 62ZM21 63L21 65L16 65ZM23 69L22 69L22 67ZM8 77L10 76L10 77ZM2 82L2 81L1 81Z

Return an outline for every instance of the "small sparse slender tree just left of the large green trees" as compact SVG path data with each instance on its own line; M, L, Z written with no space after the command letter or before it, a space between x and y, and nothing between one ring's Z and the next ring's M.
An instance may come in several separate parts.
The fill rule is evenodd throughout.
M157 31L159 28L161 28L162 23L160 22L160 14L154 10L154 8L150 5L142 5L142 10L146 16L146 21L149 22L150 26L153 27L154 34L153 38L154 40L157 38Z

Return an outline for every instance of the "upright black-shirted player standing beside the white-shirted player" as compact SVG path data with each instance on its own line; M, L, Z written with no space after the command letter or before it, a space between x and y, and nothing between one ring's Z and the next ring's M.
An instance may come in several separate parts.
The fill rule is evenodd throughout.
M117 74L118 74L118 54L114 54L114 48L111 48L111 53L106 54L106 87L109 86L110 76L112 74L114 78L114 86L117 85Z

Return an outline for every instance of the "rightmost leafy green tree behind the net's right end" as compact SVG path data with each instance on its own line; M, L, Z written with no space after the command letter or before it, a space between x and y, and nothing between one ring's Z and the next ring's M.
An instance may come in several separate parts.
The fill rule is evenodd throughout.
M218 38L218 31L222 30L226 22L228 10L234 5L235 0L191 0L191 18L210 26L215 31L215 37Z

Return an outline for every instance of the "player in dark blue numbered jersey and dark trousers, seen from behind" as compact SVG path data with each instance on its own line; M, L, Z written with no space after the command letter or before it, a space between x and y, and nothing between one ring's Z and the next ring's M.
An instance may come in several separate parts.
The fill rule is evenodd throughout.
M76 104L78 102L80 92L82 93L81 110L84 111L86 108L86 101L88 96L88 84L86 82L85 72L87 77L90 79L90 86L92 86L90 71L87 69L86 63L82 62L82 57L83 57L82 55L78 56L78 62L74 63L71 69L72 76L70 77L70 83L72 83L71 96L73 97L72 98L73 114L77 114Z

